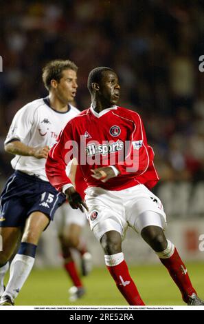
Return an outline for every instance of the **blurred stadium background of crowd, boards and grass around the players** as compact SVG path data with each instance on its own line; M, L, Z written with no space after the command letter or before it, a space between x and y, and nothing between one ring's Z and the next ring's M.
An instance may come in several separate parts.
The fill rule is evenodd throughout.
M80 110L90 103L89 71L96 66L110 66L120 77L120 105L141 114L148 141L155 150L155 165L162 179L155 193L168 214L168 236L179 247L183 259L191 262L197 288L204 289L199 277L204 270L204 73L199 71L199 57L204 54L203 1L19 0L1 1L0 5L0 187L12 172L11 156L3 150L12 117L28 101L47 95L41 81L43 65L56 58L76 62L79 88L75 104ZM95 265L92 279L86 279L88 290L93 293L93 286L96 289L104 280L104 287L107 282L107 289L111 285L114 294L107 301L100 299L103 294L97 292L93 294L97 298L92 301L85 297L81 305L126 305L105 273L102 251L88 227L84 237ZM140 281L141 289L146 287L150 298L154 280L158 278L158 285L161 278L156 256L131 231L124 250L133 274L141 274L136 282ZM40 270L36 269L26 283L19 304L30 303L30 287L33 290L35 280L45 283L47 290L45 278L60 277L62 282L57 287L65 290L69 283L62 270L51 268L60 263L54 228L49 227L38 248L36 268ZM159 290L168 287L169 294L173 290L166 304L181 303L164 273ZM38 290L33 296L33 305L67 303L67 299L43 300ZM159 298L149 303L161 304L163 299Z

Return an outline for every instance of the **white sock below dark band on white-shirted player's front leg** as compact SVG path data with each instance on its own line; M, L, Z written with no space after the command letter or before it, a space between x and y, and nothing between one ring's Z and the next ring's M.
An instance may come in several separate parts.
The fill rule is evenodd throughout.
M34 265L34 258L24 254L16 254L10 265L10 279L3 296L9 295L13 299L18 296Z

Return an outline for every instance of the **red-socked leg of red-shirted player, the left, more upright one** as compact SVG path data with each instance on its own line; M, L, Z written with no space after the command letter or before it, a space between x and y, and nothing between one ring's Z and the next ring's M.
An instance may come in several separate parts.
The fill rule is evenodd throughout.
M126 298L129 305L144 305L124 261L120 233L116 231L106 232L100 243L105 253L106 267L115 280L118 290Z

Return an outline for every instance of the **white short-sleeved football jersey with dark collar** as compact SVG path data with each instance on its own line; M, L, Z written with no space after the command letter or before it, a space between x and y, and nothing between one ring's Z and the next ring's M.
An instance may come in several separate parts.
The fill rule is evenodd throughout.
M60 131L65 128L68 121L79 114L79 110L72 105L67 106L67 112L57 112L49 106L49 99L37 99L27 103L16 112L5 144L13 139L33 148L49 148L56 143ZM16 155L11 164L14 170L30 175L36 175L48 181L45 174L45 159L36 159L34 156Z

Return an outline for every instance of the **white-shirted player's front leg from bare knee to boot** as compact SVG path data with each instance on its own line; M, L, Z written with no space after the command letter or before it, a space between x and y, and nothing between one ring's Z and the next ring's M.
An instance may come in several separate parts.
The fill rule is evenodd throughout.
M42 212L32 212L25 223L25 230L16 256L10 265L10 279L1 296L0 305L13 305L34 265L36 247L41 233L49 224Z

